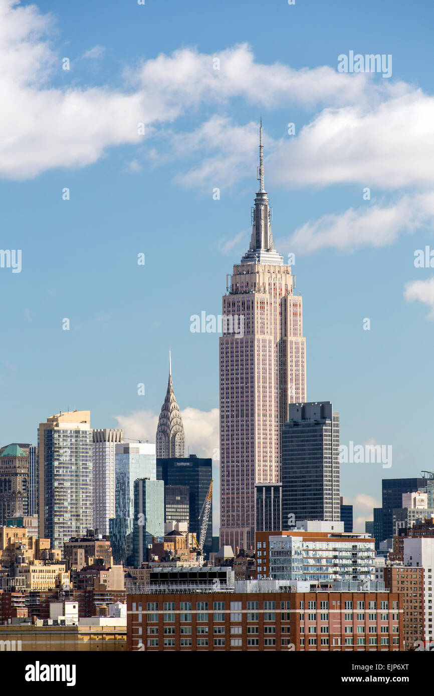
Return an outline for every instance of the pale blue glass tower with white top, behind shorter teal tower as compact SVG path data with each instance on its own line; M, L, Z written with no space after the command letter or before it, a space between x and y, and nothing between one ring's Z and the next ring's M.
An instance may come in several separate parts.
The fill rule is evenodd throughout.
M115 516L109 520L109 533L116 564L131 565L134 526L134 481L155 481L155 445L150 443L116 443Z

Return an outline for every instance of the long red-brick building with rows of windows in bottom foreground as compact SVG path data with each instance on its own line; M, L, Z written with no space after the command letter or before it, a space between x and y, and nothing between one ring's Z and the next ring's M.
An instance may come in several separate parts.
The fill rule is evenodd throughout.
M127 595L133 651L403 650L396 592Z

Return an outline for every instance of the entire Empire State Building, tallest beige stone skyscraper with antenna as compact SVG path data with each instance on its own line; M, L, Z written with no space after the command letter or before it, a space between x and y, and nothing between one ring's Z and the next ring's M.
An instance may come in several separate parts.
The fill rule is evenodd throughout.
M279 482L288 405L306 400L302 298L274 249L262 124L258 180L251 242L226 283L219 341L220 543L233 548L254 546L255 484Z

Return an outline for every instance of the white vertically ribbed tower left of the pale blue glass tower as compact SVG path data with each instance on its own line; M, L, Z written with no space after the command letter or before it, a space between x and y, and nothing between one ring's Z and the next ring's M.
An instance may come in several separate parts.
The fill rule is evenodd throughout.
M122 442L122 430L93 431L93 528L102 535L109 534L114 517L115 448Z

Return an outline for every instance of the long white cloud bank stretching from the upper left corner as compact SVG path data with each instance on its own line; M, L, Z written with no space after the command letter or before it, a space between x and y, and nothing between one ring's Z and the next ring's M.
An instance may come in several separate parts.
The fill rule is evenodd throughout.
M369 74L339 74L327 66L293 70L280 63L262 65L247 45L219 52L219 70L213 70L215 56L185 48L145 61L139 69L125 70L124 91L109 86L54 88L49 79L61 74L62 56L52 46L53 35L52 15L42 15L36 6L20 6L17 0L0 0L0 61L5 67L0 74L3 177L24 179L49 168L92 164L111 146L141 143L137 123L146 123L152 132L152 127L167 127L199 105L225 106L228 100L241 97L256 108L291 102L309 108L342 106L378 102L406 89L377 84ZM85 56L96 58L101 53L102 47L96 46ZM238 177L247 168L253 127L233 126L211 133L213 126L212 121L199 126L190 140L203 143L210 136L226 157L229 148L233 154L225 167L222 157L210 157L205 175L227 179L233 172ZM240 143L237 132L242 136ZM248 142L243 143L246 134ZM225 140L224 135L232 139ZM190 182L202 184L202 175L201 166L194 168Z

